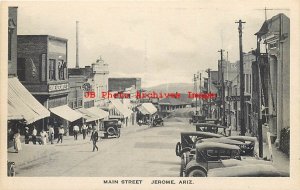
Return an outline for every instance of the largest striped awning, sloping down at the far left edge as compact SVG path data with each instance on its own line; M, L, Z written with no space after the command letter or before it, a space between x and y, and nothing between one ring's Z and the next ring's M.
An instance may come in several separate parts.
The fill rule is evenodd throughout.
M16 77L8 78L8 120L25 119L30 124L49 116L50 112Z

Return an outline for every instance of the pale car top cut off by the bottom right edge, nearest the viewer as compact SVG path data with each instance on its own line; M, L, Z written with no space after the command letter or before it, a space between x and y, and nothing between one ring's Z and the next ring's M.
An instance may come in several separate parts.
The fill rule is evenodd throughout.
M207 177L284 177L269 164L243 164L232 167L215 168L208 171Z

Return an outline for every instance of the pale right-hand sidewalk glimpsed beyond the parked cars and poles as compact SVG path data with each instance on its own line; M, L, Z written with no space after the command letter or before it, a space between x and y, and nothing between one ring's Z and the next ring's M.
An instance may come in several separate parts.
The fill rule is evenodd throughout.
M239 131L232 131L231 136L238 136ZM250 136L250 134L246 134L246 136ZM272 146L273 153L273 165L279 171L289 174L290 173L290 159L284 154L282 151L277 149L274 144ZM263 158L270 159L270 151L267 143L263 143Z

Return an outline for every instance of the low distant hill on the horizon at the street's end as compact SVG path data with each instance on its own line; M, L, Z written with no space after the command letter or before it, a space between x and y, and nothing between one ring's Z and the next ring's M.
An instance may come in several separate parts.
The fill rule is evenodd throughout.
M143 88L147 91L155 92L180 92L187 93L188 91L194 91L193 83L167 83L148 88Z

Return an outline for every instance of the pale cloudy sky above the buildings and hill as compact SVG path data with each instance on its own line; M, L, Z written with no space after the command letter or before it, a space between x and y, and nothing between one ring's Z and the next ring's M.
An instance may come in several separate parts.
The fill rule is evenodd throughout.
M193 74L217 69L221 48L228 60L239 60L238 24L243 50L256 47L255 33L267 18L289 16L287 4L271 1L193 2L23 2L18 6L18 34L48 34L68 39L68 67L76 62L79 21L79 64L99 56L109 64L109 77L141 77L142 86L192 83ZM241 3L243 2L243 3ZM246 4L246 3L247 4ZM225 59L226 59L225 53Z

